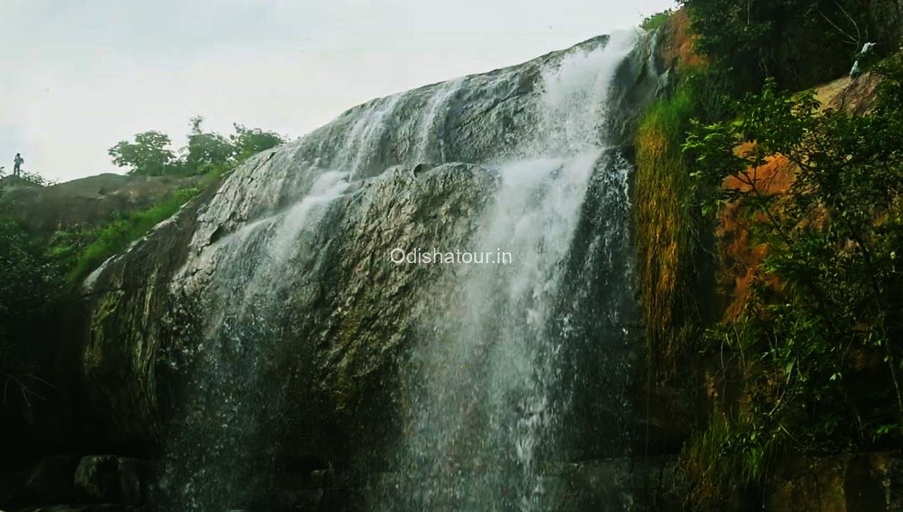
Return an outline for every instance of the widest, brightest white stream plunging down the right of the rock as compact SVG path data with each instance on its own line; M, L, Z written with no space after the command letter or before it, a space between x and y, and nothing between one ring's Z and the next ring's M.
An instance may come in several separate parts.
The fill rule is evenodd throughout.
M565 366L563 344L581 311L559 301L593 175L604 175L598 192L626 200L628 165L606 151L603 126L632 48L631 34L619 34L542 70L537 123L513 158L496 163L501 186L474 243L510 252L512 264L465 269L461 307L436 316L405 365L413 405L397 467L404 490L386 510L551 508L540 464L570 405L562 374L579 371ZM627 219L613 224L623 229Z

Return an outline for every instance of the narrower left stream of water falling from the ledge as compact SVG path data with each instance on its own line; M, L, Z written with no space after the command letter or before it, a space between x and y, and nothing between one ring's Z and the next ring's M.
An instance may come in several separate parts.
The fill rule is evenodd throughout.
M288 267L302 263L298 255L313 243L325 206L349 188L346 177L322 173L303 200L240 228L205 255L216 258L216 279L205 294L201 343L192 349L199 360L189 400L166 457L168 507L226 509L265 486L261 476L276 449L266 424L279 404L265 393L262 374L283 315L279 303L290 293Z

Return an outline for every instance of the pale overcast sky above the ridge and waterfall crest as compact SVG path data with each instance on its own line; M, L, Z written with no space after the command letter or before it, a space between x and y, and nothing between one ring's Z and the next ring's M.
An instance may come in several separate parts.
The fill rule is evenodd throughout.
M297 137L370 98L565 48L671 0L0 0L0 165L67 181L191 116Z

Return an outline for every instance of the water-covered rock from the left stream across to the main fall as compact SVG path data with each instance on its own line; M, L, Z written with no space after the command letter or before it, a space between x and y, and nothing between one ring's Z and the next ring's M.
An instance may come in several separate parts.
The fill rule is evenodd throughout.
M229 174L167 292L202 320L169 348L166 507L299 507L285 475L340 461L336 509L548 510L561 464L629 451L637 39L379 98Z

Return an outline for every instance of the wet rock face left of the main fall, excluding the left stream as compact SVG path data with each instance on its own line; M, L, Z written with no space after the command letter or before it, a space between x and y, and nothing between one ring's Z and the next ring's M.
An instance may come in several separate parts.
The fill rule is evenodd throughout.
M607 41L596 38L569 52L589 54ZM638 45L622 65L624 87L610 93L618 95L613 101L619 105L636 105L643 94L655 93L659 82L650 48ZM414 292L425 293L435 277L434 268L388 264L386 251L466 242L496 179L487 168L446 162L494 162L524 153L540 127L563 133L566 119L540 118L537 95L565 53L352 108L298 141L256 155L89 276L82 364L110 439L151 449L163 439L162 419L175 406L172 396L190 385L185 376L192 360L203 357L197 345L209 333L201 324L222 314L217 301L244 293L238 285L226 289L218 283L245 286L254 272L258 278L265 274L243 266L240 251L230 253L229 247L270 243L274 230L285 228L284 219L293 215L300 216L297 222L312 222L293 208L301 208L297 201L316 186L332 186L323 193L347 197L328 211L315 211L317 235L303 235L297 247L272 247L282 251L275 257L287 258L280 265L288 270L266 277L266 285L258 282L254 293L278 289L283 301L284 326L273 339L290 341L279 347L284 357L272 364L282 384L299 393L293 402L308 405L296 414L308 414L301 423L330 418L328 423L340 424L335 412L358 411L367 402L362 389L386 385L368 378L401 346L406 322L417 314L411 309ZM606 126L597 130L601 137ZM404 165L392 167L399 163ZM417 163L426 163L426 170L414 175ZM344 174L318 185L330 169ZM341 191L334 188L344 186L340 181L349 183ZM228 258L235 275L223 273ZM217 286L218 299L201 296Z

